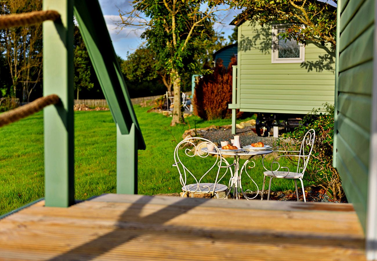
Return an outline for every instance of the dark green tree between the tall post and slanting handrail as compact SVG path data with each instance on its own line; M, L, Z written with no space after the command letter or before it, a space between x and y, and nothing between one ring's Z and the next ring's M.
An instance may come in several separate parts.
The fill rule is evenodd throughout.
M86 50L85 43L81 37L78 27L75 27L75 51L74 51L74 66L75 66L75 75L74 75L74 84L77 91L77 100L78 93L82 89L92 89L94 84L90 81L92 63L89 60L89 54Z

